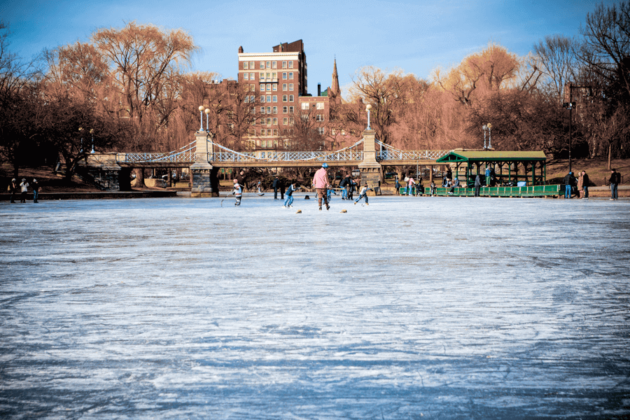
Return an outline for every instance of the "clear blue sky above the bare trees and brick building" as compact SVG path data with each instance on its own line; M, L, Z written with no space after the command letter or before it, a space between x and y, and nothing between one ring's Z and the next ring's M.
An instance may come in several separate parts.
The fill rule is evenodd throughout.
M613 3L619 1L604 1ZM269 52L272 45L302 39L311 93L317 83L323 89L331 84L335 57L342 90L367 65L428 78L489 42L526 55L546 35L576 36L594 8L583 0L0 0L11 48L25 58L135 20L188 31L201 48L194 70L236 78L239 45L245 52Z

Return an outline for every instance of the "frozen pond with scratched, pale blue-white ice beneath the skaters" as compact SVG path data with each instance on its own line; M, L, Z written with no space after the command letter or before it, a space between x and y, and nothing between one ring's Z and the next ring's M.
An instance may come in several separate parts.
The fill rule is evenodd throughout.
M303 196L0 203L0 418L630 415L630 201Z

